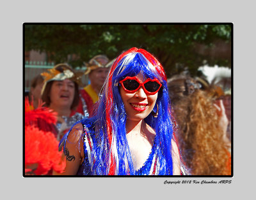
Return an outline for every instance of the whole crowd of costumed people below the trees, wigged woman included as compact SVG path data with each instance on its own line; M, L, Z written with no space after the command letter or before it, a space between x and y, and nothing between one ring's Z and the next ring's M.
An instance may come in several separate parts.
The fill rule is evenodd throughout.
M84 73L57 64L26 99L25 175L231 175L230 99L202 78L167 78L143 49L96 55ZM35 128L55 145L44 170Z

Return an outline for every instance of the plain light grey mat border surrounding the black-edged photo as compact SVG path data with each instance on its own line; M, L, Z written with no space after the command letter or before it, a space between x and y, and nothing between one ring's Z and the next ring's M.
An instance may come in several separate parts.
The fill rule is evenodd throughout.
M253 1L17 1L0 3L1 196L8 199L232 199L255 185L255 10ZM233 22L234 177L232 178L23 178L22 23L24 22ZM230 184L164 181L232 180Z

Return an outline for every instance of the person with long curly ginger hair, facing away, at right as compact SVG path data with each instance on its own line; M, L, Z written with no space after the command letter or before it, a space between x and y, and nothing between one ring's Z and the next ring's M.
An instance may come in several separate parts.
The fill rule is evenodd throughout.
M230 153L225 143L228 120L223 103L214 101L211 87L202 90L189 76L173 76L168 87L186 173L231 175Z

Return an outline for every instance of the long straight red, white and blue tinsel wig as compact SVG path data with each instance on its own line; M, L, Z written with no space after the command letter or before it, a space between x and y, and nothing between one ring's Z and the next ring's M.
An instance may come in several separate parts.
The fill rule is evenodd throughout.
M134 175L132 156L126 138L127 115L120 96L120 80L142 73L145 78L157 78L162 83L156 104L158 115L150 113L145 122L156 131L154 143L159 159L159 175L172 175L173 124L166 75L157 59L146 50L131 48L121 54L113 63L97 103L94 116L84 119L95 122L97 148L92 152L94 175ZM157 106L153 109L156 112ZM84 123L86 124L86 123ZM90 131L90 130L88 130ZM94 144L95 145L95 144ZM161 163L164 163L161 165Z

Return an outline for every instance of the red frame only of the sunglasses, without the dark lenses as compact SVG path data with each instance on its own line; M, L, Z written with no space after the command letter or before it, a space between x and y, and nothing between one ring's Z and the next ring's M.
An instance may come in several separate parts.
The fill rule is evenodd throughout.
M125 80L136 80L136 82L138 82L140 85L135 90L127 90L124 87L124 83L123 83L123 82L125 82ZM145 86L144 86L147 82L157 82L160 85L160 87L155 92L149 92L147 89L145 89ZM133 76L133 77L127 76L124 78L124 80L120 80L119 83L122 85L123 89L127 93L134 93L134 92L138 91L140 89L140 87L142 87L144 92L148 95L156 94L162 87L162 83L160 83L157 78L154 78L154 79L148 78L147 80L145 80L145 82L141 82L140 80L138 80L138 78L136 76Z

